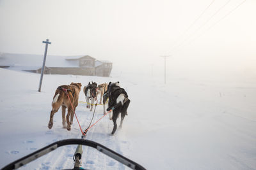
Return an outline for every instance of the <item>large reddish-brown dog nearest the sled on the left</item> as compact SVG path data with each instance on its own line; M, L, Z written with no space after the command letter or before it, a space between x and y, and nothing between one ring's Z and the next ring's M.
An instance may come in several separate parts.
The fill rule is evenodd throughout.
M79 97L79 92L81 90L81 86L82 86L81 83L72 82L70 85L61 85L57 88L52 100L52 111L51 111L51 116L48 124L49 129L51 129L53 125L54 113L56 113L61 106L63 128L66 128L66 120L67 120L67 130L68 131L71 130L70 125L72 125L73 118L74 118L74 111L76 110L76 106L78 105L78 97ZM65 93L65 89L67 89L67 94L69 96L69 99L67 94ZM74 107L74 109L72 108L72 106ZM68 108L67 117L65 117L66 108Z

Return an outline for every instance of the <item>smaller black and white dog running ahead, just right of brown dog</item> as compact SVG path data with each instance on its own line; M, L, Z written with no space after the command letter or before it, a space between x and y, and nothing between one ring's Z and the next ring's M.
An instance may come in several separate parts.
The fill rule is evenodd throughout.
M85 100L87 103L86 108L90 108L91 106L90 111L92 111L94 101L97 100L96 91L97 91L97 83L93 81L92 81L92 84L89 82L86 87L84 86ZM91 99L91 102L90 102L90 99Z

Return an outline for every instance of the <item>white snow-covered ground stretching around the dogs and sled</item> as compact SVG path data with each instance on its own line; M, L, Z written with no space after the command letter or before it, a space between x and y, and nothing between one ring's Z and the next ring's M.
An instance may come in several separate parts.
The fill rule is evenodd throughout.
M0 167L54 141L81 138L61 125L61 110L47 128L52 97L59 85L88 81L120 81L131 104L122 129L109 135L113 122L104 117L88 132L96 141L147 169L256 169L256 76L168 76L114 73L111 78L44 75L0 69ZM81 92L79 101L85 101ZM97 106L96 117L102 117ZM83 128L92 112L83 103L76 110ZM119 121L118 121L119 123ZM106 155L84 147L87 169L128 169ZM73 167L76 146L63 146L21 169Z

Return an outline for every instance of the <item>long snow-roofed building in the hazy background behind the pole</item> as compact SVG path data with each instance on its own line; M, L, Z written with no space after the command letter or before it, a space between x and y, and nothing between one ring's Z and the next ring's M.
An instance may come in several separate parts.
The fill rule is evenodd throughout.
M0 56L0 67L8 67L8 69L41 73L42 66L40 65L42 65L42 55L2 53ZM75 57L49 55L46 59L44 73L108 77L111 70L111 62L96 60L90 55Z

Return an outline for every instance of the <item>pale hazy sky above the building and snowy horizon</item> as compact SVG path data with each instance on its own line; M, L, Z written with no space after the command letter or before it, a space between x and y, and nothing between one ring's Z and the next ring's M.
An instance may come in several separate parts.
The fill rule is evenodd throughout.
M254 0L0 0L0 52L91 55L127 71L255 73Z

